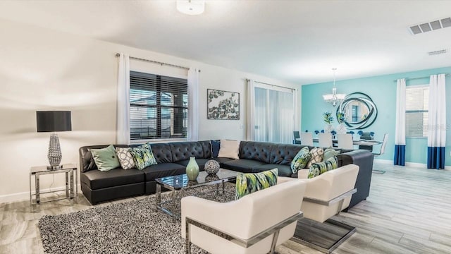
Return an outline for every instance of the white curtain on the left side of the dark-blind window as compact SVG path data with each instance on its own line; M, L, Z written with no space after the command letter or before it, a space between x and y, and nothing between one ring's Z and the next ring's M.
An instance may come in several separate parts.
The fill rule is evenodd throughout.
M118 61L116 143L130 145L130 57L121 53Z

